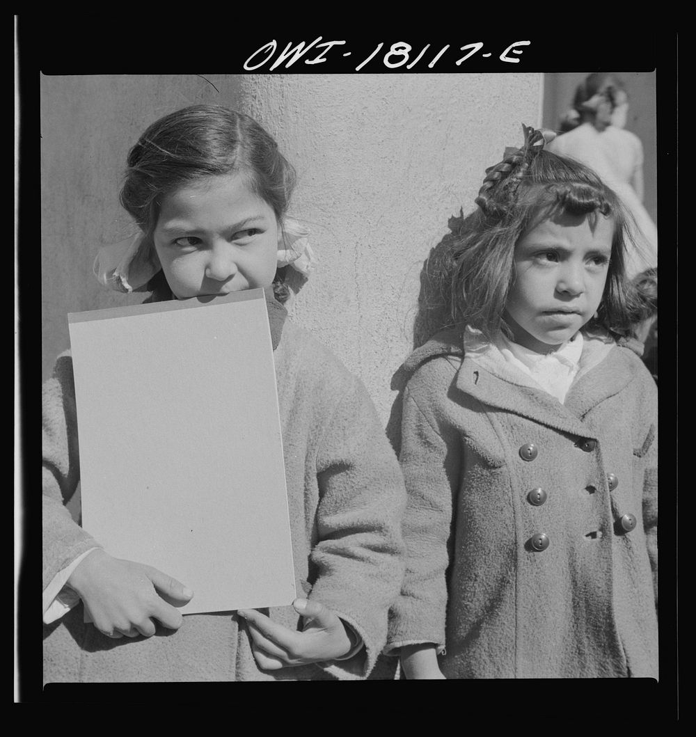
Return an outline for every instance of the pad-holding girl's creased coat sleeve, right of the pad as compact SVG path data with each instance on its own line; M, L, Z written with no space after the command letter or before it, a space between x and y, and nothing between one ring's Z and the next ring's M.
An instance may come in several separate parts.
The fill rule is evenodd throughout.
M403 475L372 400L355 377L322 429L317 454L318 542L310 555L310 598L347 622L364 648L327 666L339 678L364 678L386 641L391 602L403 578Z

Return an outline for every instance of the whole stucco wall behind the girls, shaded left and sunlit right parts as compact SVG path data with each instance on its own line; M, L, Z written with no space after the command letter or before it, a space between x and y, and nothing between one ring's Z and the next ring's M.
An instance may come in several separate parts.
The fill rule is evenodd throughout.
M291 214L320 263L290 307L365 381L384 422L411 350L422 262L472 209L521 122L540 124L541 74L44 77L41 85L44 376L66 313L142 301L102 290L91 262L128 234L117 192L128 148L198 101L239 106L276 136L299 182Z

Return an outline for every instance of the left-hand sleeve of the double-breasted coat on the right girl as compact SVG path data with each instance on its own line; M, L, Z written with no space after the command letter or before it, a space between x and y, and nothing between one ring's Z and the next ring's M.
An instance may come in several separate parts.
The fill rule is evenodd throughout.
M423 367L403 397L400 464L407 493L406 573L391 610L386 646L391 654L419 643L434 643L438 652L445 647L446 571L462 455L458 431L437 411L443 377L434 364L442 368L443 362ZM449 380L451 374L444 378Z

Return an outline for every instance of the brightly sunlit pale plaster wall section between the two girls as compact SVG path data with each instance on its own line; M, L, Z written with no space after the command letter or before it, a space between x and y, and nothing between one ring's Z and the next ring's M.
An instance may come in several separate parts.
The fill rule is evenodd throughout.
M485 169L539 125L541 74L249 75L243 106L298 172L290 214L319 265L290 314L366 384L386 423L424 259Z

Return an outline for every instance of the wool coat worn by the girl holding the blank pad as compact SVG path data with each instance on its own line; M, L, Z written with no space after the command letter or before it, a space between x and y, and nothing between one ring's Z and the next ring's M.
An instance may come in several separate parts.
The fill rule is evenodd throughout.
M370 671L394 677L393 659L374 666L403 576L406 494L397 458L360 380L307 332L284 323L285 310L267 301L296 587L338 613L365 647L327 666L265 672L234 612L187 615L176 632L158 626L152 638L114 640L83 624L80 603L44 625L44 682L333 680ZM66 353L44 386L44 587L98 545L63 506L78 477L72 358ZM211 565L228 575L224 561ZM301 624L292 607L272 608L270 616L290 629Z

